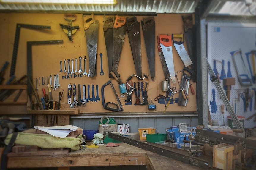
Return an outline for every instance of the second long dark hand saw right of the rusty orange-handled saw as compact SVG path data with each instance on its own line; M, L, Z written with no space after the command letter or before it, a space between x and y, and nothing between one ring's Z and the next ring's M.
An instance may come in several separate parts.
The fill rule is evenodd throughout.
M148 57L151 80L155 77L155 21L154 17L143 18L141 21L144 42Z

